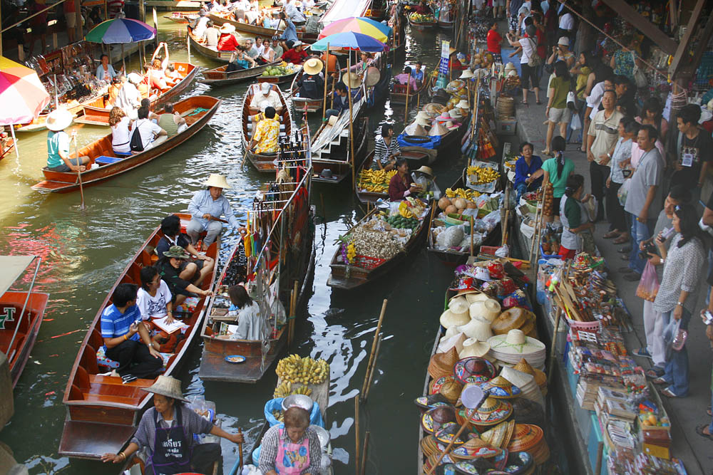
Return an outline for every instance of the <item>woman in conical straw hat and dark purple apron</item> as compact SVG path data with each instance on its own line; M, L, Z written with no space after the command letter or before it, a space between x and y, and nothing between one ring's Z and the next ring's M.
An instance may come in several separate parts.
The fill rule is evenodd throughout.
M103 462L123 464L136 451L146 449L145 475L212 474L212 466L221 456L220 444L198 444L193 434L212 434L242 444L240 432L228 434L183 404L188 400L174 377L160 375L142 390L153 393L153 407L143 413L128 446L118 454L103 454Z

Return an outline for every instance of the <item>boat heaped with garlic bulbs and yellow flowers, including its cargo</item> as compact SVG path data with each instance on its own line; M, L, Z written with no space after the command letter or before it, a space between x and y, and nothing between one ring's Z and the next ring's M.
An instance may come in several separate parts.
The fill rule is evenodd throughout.
M406 199L401 203L409 203L409 209L411 209L411 203L413 203L414 201L415 200L411 198ZM403 236L399 236L396 238L389 238L390 241L394 241L394 239L404 239L405 236L407 240L406 243L402 246L395 246L393 242L389 242L388 246L391 247L389 251L394 251L395 249L399 248L400 249L399 251L396 251L395 254L392 254L388 258L384 259L374 256L358 254L360 252L359 248L362 245L369 247L371 251L381 251L381 248L385 246L385 237L379 237L379 242L377 243L375 241L376 238L374 236L371 236L369 238L371 239L371 241L365 242L364 244L360 244L359 241L361 241L361 239L366 238L364 236L354 236L354 232L357 231L357 228L360 228L364 225L366 225L362 228L364 230L366 230L367 228L371 230L376 229L377 224L372 225L369 223L369 221L371 221L372 219L379 219L381 210L379 210L378 208L372 209L371 212L367 213L364 218L362 218L354 227L352 227L352 229L349 229L349 231L347 231L347 233L344 235L344 238L342 239L342 244L340 244L337 248L337 251L334 252L334 256L332 256L332 261L329 264L329 267L332 268L332 273L329 274L329 278L327 279L327 285L333 288L352 290L354 288L363 286L366 283L376 281L377 278L386 275L386 273L389 273L389 271L391 271L392 269L398 268L399 265L403 261L405 261L406 258L412 252L418 249L423 243L425 231L429 227L431 206L434 206L434 204L425 204L425 207L420 207L419 205L419 208L422 209L422 212L419 215L417 223L415 224L409 225L409 221L400 221L392 225L384 221L384 223L389 224L389 226L384 226L381 223L377 224L378 226L383 226L386 231L366 231L364 233L359 232L359 234L364 235L369 233L375 234L376 232L378 232L379 234L384 234L384 236L386 236L387 234L392 234L392 236L395 236L393 233L391 233L391 231L396 232L396 234L404 234ZM398 216L396 217L396 220L399 220ZM401 225L406 227L403 229L397 229ZM409 228L409 226L412 227ZM406 229L410 229L411 233L409 233ZM401 231L404 231L404 233L401 233ZM349 255L349 246L352 245L352 239L356 241L355 246L357 254L355 254L354 256Z

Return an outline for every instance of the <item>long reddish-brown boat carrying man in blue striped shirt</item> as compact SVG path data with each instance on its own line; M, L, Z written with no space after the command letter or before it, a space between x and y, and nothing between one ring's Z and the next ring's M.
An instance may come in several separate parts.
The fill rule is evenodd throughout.
M181 219L181 229L185 232L190 214L178 214L178 216ZM123 384L120 377L102 375L111 371L111 368L106 366L106 360L97 359L97 350L103 346L101 314L111 304L113 291L120 283L140 285L140 270L143 266L153 264L153 249L161 236L159 227L129 261L99 307L79 347L62 400L67 409L58 450L62 456L98 459L107 452L118 453L135 432L141 414L150 407L153 395L142 389L153 385L155 380L138 379ZM220 239L203 251L206 256L217 260L218 249L220 249ZM200 288L203 290L212 288L216 273L217 266ZM164 375L177 375L180 365L190 353L188 348L200 331L205 303L206 298L200 298L195 307L183 318L183 322L188 325L188 330L185 331L185 338L178 343L175 353L168 357L164 365Z

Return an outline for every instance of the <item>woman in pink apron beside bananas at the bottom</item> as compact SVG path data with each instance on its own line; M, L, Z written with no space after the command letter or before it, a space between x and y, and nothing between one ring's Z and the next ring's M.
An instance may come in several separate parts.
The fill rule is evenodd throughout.
M317 475L321 462L322 446L302 407L289 407L284 424L270 427L262 438L258 468L263 475Z

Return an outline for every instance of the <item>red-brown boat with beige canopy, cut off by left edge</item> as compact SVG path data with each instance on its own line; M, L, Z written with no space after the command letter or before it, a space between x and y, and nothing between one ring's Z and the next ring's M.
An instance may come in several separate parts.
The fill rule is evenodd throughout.
M32 291L41 262L39 256L0 256L3 268L0 278L0 351L9 361L12 387L17 384L30 357L49 298L48 293ZM34 276L28 291L8 290L27 269L32 271L32 268Z

